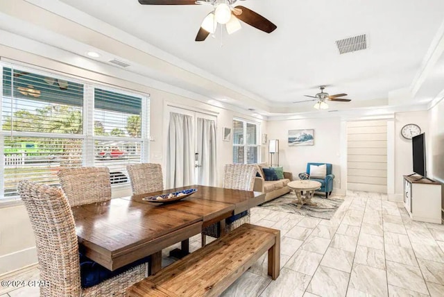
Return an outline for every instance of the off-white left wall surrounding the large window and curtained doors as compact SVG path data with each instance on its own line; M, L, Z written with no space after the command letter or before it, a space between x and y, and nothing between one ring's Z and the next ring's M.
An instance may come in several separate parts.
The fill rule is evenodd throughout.
M11 56L6 56L6 58L15 58L15 60L21 60L29 65L51 67L54 71L60 71L64 74L71 74L97 82L108 83L114 87L124 87L130 90L136 90L137 92L150 94L150 134L153 137L153 141L149 142L150 162L164 164L164 151L166 151L164 147L164 137L166 137L166 135L164 135L164 128L162 126L164 123L165 102L196 111L209 111L217 114L217 171L219 185L222 185L224 164L232 163L232 142L222 141L222 128L232 127L233 117L242 117L261 124L261 134L266 133L266 121L233 112L232 110L224 108L222 104L221 106L210 105L185 96L178 96L154 89L147 85L134 83L129 78L125 80L125 77L116 77L114 73L103 71L102 74L98 74L97 72L79 69L22 51L11 51L10 49L3 51L3 49L4 48L0 47L0 56L2 57L7 53ZM262 149L262 155L264 155L264 149ZM128 196L130 193L129 185L127 187L117 187L113 189L112 197ZM0 206L0 274L19 269L22 266L35 262L37 262L35 241L26 209L23 205L15 207Z

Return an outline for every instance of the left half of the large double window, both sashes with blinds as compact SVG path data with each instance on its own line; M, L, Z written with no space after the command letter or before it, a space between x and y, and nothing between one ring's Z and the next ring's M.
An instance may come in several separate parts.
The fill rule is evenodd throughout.
M83 163L83 85L3 68L3 196L19 180L56 184L60 167Z

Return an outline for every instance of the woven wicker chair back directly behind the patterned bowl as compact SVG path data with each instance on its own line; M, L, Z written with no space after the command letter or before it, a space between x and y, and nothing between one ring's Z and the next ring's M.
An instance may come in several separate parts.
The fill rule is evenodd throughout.
M134 195L157 192L164 189L162 166L160 164L133 164L128 165L126 170L130 176Z

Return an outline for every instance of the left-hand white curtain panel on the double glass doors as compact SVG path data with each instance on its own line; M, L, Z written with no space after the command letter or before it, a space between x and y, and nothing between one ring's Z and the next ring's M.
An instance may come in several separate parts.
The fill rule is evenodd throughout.
M175 112L170 113L167 155L167 187L193 185L193 118Z

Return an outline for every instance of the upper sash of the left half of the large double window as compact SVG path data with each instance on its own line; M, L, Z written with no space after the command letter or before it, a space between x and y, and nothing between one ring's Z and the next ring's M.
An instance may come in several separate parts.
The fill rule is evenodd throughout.
M3 130L83 133L83 85L3 68Z

